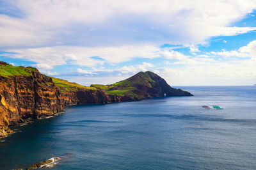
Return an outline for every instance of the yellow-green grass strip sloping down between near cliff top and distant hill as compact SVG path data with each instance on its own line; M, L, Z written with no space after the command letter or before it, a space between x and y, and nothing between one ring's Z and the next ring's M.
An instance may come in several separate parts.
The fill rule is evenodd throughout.
M96 89L93 87L82 86L76 82L69 82L63 79L52 77L52 81L58 86L61 91L77 91L79 89Z

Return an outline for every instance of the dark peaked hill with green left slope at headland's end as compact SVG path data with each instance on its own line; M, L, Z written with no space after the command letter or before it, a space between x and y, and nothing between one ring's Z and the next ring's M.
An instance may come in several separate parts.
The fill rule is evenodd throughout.
M138 97L181 97L192 96L188 91L169 86L163 78L153 72L139 72L124 81L110 85L92 84L91 87L100 89L108 94ZM165 95L164 95L165 94Z

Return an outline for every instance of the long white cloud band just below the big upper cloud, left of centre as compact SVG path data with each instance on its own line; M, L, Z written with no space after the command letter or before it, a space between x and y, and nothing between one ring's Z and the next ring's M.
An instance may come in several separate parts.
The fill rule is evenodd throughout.
M154 45L124 45L117 47L76 47L55 46L29 49L10 49L15 54L4 54L11 58L28 59L38 63L36 66L43 68L72 63L80 66L95 66L107 63L121 63L133 58L157 58L161 50ZM93 59L99 56L100 59Z

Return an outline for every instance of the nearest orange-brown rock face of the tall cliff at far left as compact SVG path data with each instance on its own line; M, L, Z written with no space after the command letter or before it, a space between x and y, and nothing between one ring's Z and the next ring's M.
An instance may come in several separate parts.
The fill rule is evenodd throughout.
M0 77L0 136L28 118L50 116L63 110L63 97L51 77L39 72L31 75Z

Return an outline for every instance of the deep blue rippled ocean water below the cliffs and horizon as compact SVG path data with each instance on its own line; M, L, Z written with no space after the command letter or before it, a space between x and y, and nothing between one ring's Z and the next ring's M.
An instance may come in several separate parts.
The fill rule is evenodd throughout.
M15 127L0 169L67 153L52 169L256 169L256 87L180 88L195 96L79 105Z

